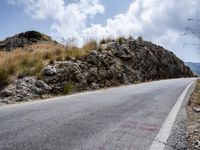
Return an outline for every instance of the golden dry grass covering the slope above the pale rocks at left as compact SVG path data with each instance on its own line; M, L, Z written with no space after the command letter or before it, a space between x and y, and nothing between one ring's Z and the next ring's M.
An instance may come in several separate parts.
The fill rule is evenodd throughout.
M89 51L97 49L97 43L91 41L82 48L55 44L34 44L12 52L0 52L0 87L10 82L10 76L38 76L44 62L62 61L80 58Z

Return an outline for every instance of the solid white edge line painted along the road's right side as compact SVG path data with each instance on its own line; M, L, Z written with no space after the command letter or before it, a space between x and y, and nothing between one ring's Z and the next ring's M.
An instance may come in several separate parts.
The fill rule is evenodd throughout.
M174 125L174 121L176 119L176 116L179 112L179 109L183 103L183 100L189 90L189 88L194 84L195 82L190 83L183 93L178 98L176 104L173 106L172 110L168 114L165 122L163 123L162 127L160 128L160 131L158 132L154 142L150 146L149 150L164 150L165 144L167 142L167 139L170 135L170 131Z

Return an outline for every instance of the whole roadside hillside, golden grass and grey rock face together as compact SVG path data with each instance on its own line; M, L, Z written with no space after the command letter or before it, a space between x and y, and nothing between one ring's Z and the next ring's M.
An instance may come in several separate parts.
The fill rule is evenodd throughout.
M193 76L172 52L141 38L91 41L82 48L38 43L31 52L23 51L25 44L0 53L0 103Z

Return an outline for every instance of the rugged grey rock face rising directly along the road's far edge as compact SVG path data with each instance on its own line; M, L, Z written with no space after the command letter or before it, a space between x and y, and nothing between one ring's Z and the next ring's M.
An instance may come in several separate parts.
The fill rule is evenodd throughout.
M98 50L79 59L46 65L40 80L25 77L1 90L0 102L14 103L138 81L191 76L189 67L172 52L151 42L129 38L101 44Z

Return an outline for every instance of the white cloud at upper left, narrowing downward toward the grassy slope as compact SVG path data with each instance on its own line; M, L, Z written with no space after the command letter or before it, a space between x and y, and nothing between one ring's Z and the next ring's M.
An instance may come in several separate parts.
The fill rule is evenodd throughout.
M104 6L99 0L80 0L68 4L64 0L8 0L8 3L23 5L24 11L33 19L52 19L53 35L65 39L78 39L81 30L87 28L87 21L98 13L104 13ZM78 43L82 43L83 37L79 40Z

